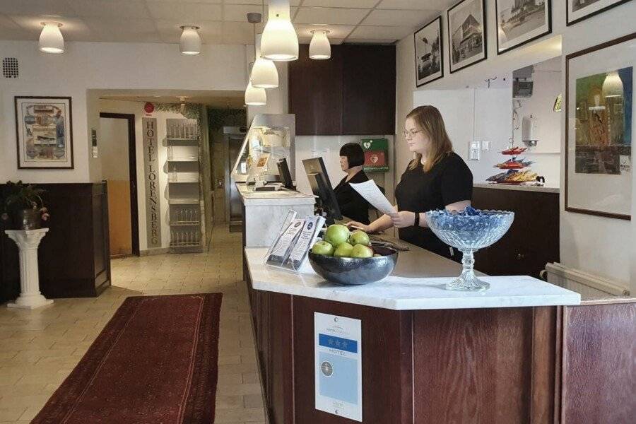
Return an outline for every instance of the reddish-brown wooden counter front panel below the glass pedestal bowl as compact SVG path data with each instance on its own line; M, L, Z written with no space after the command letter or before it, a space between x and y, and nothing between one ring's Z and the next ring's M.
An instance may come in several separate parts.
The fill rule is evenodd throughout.
M533 311L416 311L414 423L530 423Z

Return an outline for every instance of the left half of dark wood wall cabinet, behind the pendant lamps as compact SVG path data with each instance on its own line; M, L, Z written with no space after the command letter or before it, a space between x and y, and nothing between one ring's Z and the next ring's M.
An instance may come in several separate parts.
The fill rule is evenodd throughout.
M289 62L289 113L296 115L296 135L342 134L343 73L341 46L331 46L331 59L309 58L300 45L298 60Z

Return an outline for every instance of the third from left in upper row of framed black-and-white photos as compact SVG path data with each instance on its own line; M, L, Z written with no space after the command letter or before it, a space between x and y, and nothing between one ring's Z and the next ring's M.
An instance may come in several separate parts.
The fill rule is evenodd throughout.
M495 0L497 54L552 32L550 0Z

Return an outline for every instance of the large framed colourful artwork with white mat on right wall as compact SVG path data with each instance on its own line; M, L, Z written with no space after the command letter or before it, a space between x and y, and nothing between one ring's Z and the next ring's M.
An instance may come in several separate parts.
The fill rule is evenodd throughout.
M636 33L565 57L565 210L631 219Z

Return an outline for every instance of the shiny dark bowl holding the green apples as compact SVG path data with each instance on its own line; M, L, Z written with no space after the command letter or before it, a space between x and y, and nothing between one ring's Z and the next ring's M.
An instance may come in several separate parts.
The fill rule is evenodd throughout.
M381 254L372 258L338 258L309 252L309 260L316 273L331 283L360 285L380 281L388 276L397 261L397 251L389 247L372 246Z

